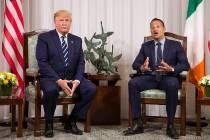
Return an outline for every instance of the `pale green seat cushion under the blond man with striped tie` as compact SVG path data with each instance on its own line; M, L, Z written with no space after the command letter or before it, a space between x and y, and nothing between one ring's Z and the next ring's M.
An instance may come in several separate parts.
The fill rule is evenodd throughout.
M25 88L25 95L31 98L35 98L35 86L29 85ZM41 95L43 96L43 92L41 91ZM58 98L72 98L72 96L67 96L63 91L59 92Z

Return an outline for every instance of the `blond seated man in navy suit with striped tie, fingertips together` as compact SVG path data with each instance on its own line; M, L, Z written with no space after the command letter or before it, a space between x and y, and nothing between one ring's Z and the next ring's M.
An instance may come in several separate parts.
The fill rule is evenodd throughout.
M66 132L76 135L82 135L76 120L85 119L96 92L96 86L83 77L85 61L82 39L69 33L71 21L71 13L59 10L54 14L56 29L38 37L36 58L41 74L46 137L54 135L53 116L60 90L68 96L77 95L82 99L74 106L64 126Z

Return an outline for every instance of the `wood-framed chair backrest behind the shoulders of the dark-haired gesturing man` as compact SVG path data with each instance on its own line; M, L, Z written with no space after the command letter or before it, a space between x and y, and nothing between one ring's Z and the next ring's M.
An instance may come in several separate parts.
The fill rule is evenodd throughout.
M184 48L185 53L187 53L187 37L177 35L170 32L165 32L165 37L171 40L179 41L182 44L182 47ZM152 36L146 36L144 37L144 42L152 40Z

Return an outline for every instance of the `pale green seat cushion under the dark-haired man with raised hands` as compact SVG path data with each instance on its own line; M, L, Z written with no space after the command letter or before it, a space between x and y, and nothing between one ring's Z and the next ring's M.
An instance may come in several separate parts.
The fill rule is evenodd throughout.
M178 99L181 97L180 90L178 91ZM141 92L141 98L165 99L166 93L160 89L149 89Z

